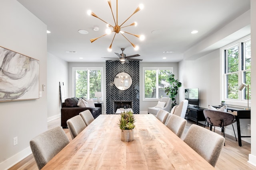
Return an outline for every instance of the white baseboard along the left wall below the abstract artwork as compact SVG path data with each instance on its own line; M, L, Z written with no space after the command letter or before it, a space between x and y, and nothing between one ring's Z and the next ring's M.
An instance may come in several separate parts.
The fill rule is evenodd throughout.
M22 150L21 152L18 152L14 156L8 158L4 162L1 162L0 169L1 170L9 169L12 166L14 166L15 164L17 164L18 162L20 162L21 160L23 160L24 158L26 158L27 156L29 156L30 154L32 154L32 151L31 151L30 147L27 147L26 149Z

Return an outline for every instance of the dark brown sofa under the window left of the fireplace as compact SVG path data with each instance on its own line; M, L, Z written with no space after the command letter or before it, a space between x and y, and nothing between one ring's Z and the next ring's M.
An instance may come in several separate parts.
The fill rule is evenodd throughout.
M79 115L80 112L85 110L90 110L92 113L92 116L94 119L98 117L101 114L102 105L100 103L94 103L95 109L92 109L91 107L78 107L79 98L67 98L64 103L62 103L61 108L61 126L62 128L67 128L67 120L71 117L74 117L76 115Z

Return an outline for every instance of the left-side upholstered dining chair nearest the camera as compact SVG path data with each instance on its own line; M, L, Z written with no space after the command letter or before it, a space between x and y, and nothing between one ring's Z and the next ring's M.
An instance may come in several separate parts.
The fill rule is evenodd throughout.
M68 137L60 126L34 137L30 141L30 148L38 168L42 169L68 143Z

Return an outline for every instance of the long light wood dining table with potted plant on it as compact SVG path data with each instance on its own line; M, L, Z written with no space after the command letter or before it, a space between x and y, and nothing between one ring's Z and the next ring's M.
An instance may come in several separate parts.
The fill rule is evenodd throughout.
M120 140L120 115L100 115L42 170L210 170L204 158L152 114L135 114L134 140Z

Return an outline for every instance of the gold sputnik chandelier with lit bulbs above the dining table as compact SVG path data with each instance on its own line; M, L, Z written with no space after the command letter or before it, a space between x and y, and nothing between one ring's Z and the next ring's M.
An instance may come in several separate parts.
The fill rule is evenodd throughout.
M116 0L116 20L115 20L113 11L112 11L111 0L108 0L108 5L110 6L110 10L111 10L111 12L112 12L112 16L113 16L114 23L115 23L114 26L111 25L111 24L109 24L109 23L107 23L106 21L102 20L102 19L99 18L98 16L96 16L96 14L94 14L92 11L88 11L88 12L87 12L88 15L94 16L94 17L96 17L96 18L102 20L103 22L105 22L105 23L107 24L107 27L108 27L108 29L106 29L106 34L101 35L100 37L97 37L97 38L94 38L94 39L90 39L91 43L93 43L95 40L97 40L97 39L99 39L99 38L101 38L101 37L103 37L103 36L105 36L105 35L108 35L108 34L110 34L110 33L112 33L112 32L114 32L115 34L114 34L114 37L113 37L113 39L112 39L112 42L111 42L110 46L108 47L108 51L112 51L112 43L113 43L114 38L115 38L115 36L116 36L117 33L120 33L127 41L129 41L129 40L126 38L126 36L124 36L124 33L130 34L130 35L134 35L135 37L140 38L140 40L144 40L144 38L145 38L144 35L136 35L136 34L128 33L128 32L126 32L126 31L123 31L123 30L122 30L124 27L132 26L132 25L136 26L136 25L137 25L137 23L134 22L134 23L131 23L130 25L123 26L124 23L125 23L129 18L131 18L131 16L133 16L136 12L140 11L141 9L143 9L143 5L140 5L140 6L133 12L133 14L132 14L130 17L128 17L121 25L118 25L118 0ZM112 30L110 29L111 27L112 27ZM132 45L132 47L134 47L135 50L138 50L138 46L134 45L134 43L132 43L131 41L129 41L129 43Z

